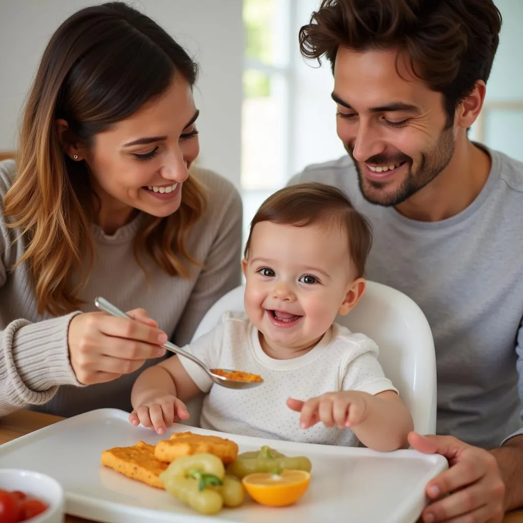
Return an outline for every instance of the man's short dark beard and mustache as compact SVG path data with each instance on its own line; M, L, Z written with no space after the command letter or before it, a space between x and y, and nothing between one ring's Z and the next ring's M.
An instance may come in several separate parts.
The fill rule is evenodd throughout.
M388 185L387 182L366 179L361 172L358 161L354 158L353 147L346 146L345 149L353 158L354 165L358 171L359 187L363 197L370 203L391 207L404 202L416 194L447 167L454 153L454 139L452 128L445 128L439 135L434 147L421 154L421 160L415 171L412 170L412 158L406 154L377 154L368 158L366 163L374 165L397 165L403 162L407 164L407 175L401 186L394 192L385 190Z

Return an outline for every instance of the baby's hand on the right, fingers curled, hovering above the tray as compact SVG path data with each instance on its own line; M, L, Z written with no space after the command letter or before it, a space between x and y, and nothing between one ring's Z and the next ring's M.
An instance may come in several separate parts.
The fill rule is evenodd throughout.
M287 406L301 412L300 427L309 428L318 422L327 427L354 427L367 416L367 393L359 391L328 392L305 402L289 398Z

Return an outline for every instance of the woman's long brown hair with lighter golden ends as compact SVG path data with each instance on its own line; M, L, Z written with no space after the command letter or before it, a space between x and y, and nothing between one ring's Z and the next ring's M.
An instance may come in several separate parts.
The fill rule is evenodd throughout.
M190 85L198 67L160 26L121 2L79 10L55 31L43 53L21 126L18 170L4 198L9 226L27 238L39 313L77 309L93 267L91 224L98 200L85 162L64 152L55 121L84 146L95 135L160 96L175 75ZM167 218L144 214L134 256L151 256L170 275L188 276L188 231L206 205L203 187L184 182L180 208ZM143 265L142 265L143 267Z

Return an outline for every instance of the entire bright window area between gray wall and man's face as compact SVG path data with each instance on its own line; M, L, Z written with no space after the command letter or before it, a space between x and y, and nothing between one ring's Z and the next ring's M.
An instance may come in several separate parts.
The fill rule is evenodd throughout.
M305 62L298 31L320 0L244 0L241 185L244 232L261 202L306 165L345 153L332 73Z

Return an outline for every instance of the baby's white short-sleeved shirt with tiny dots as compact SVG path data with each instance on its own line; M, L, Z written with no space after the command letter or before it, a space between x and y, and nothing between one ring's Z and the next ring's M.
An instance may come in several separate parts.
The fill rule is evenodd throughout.
M214 385L194 362L180 357L192 380L208 393L203 401L201 426L224 433L357 446L358 439L350 429L328 428L322 423L301 429L300 413L286 405L287 398L308 400L344 390L397 392L384 376L376 343L337 324L307 354L278 360L264 353L258 331L245 313L225 313L217 327L184 349L211 369L242 370L264 379L253 389L226 389Z

